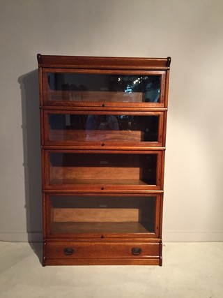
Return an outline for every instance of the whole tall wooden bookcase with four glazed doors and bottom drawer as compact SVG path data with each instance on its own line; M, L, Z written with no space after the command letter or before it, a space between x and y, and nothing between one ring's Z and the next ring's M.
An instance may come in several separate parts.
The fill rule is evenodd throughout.
M162 265L168 58L38 54L43 265Z

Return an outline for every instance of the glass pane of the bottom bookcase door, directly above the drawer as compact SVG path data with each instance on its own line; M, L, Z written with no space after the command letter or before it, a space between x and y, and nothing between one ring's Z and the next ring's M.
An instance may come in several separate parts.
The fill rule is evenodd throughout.
M51 234L155 232L155 197L51 196Z

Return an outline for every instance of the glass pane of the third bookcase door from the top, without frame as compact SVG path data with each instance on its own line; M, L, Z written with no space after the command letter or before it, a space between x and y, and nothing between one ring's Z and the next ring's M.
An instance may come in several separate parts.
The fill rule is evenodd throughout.
M49 154L49 184L155 185L157 154Z

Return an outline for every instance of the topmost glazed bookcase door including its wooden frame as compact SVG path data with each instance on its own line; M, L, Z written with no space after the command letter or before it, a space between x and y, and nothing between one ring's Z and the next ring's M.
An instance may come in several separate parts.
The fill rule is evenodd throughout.
M163 105L165 72L131 70L43 71L45 105ZM102 105L104 104L104 105Z

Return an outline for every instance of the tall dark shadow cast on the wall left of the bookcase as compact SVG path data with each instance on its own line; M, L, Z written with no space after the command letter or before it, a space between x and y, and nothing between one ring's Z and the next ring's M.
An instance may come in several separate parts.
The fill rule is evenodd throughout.
M42 241L43 230L38 70L22 75L18 82L22 99L26 229L29 244L41 260L40 244L37 243Z

